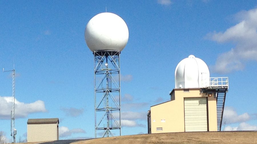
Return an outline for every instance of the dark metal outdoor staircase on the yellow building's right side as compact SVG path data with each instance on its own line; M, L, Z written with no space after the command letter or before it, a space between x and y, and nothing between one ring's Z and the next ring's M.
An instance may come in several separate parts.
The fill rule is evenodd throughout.
M224 111L224 105L225 105L225 99L226 99L226 89L218 90L217 91L217 130L221 131L221 125L222 125L222 117L223 117L223 111Z

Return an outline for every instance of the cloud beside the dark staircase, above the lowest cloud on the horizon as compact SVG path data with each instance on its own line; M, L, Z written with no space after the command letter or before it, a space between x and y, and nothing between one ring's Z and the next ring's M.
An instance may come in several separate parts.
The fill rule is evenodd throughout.
M246 122L250 120L250 118L251 117L248 113L238 115L232 107L225 107L222 121L226 122L226 124L232 124L238 122Z

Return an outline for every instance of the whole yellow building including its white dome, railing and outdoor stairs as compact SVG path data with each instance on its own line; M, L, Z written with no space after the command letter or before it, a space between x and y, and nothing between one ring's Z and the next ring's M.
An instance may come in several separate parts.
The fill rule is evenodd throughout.
M175 70L170 101L150 107L148 133L220 131L228 78L210 78L204 61L190 55Z

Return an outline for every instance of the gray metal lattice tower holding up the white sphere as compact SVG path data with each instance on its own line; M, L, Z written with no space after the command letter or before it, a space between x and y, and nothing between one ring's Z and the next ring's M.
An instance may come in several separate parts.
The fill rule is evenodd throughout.
M95 138L121 135L120 51L94 51L95 70ZM118 101L117 101L118 100ZM118 120L116 119L118 118Z

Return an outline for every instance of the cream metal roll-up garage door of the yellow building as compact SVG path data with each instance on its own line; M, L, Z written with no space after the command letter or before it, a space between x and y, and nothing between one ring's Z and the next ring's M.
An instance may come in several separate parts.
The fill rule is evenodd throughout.
M208 130L206 97L185 98L185 132Z

